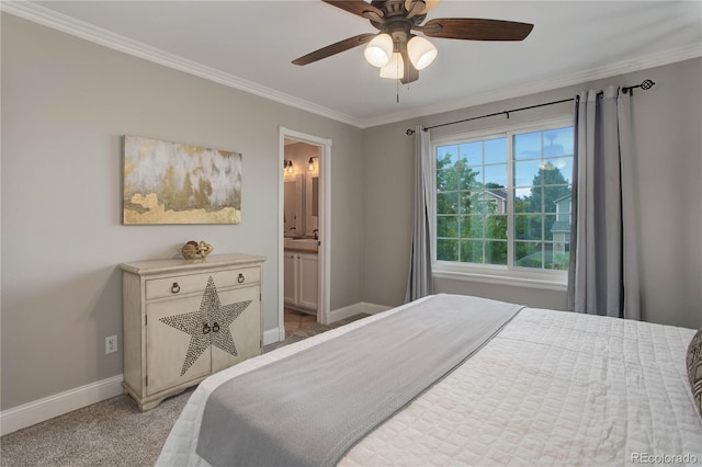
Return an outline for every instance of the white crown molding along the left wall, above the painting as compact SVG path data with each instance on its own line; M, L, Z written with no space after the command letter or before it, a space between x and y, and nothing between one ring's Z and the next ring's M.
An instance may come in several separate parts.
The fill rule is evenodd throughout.
M0 10L42 24L47 27L70 34L72 36L122 52L155 64L162 65L179 71L186 72L206 80L238 89L261 98L269 99L292 107L301 109L327 118L346 123L355 127L362 127L363 122L351 115L317 105L313 102L298 99L294 95L276 91L272 88L258 84L230 73L226 73L216 68L212 68L194 60L180 57L157 47L151 47L141 42L134 41L120 34L115 34L102 27L94 26L84 21L58 13L48 8L32 3L30 1L0 1Z

